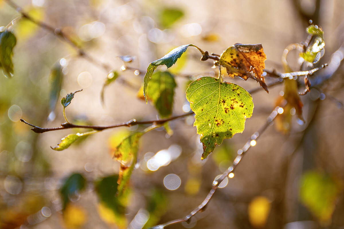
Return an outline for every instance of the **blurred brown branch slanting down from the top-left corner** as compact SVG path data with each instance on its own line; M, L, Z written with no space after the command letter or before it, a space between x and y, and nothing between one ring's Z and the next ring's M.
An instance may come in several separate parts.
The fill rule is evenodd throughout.
M107 64L101 63L98 60L96 60L95 58L93 58L92 56L90 56L89 54L87 54L82 49L82 47L80 47L80 45L77 44L76 41L74 41L71 37L69 37L66 33L64 33L60 28L55 28L49 24L46 24L44 22L41 22L41 21L38 21L38 20L32 18L29 14L27 14L19 5L14 3L12 0L4 0L4 1L6 1L7 4L9 4L13 9L15 9L18 13L20 13L23 18L28 19L29 21L31 21L31 22L35 23L36 25L44 28L45 30L58 36L63 41L65 41L66 43L71 45L73 48L75 48L77 50L77 53L80 57L83 57L84 59L86 59L87 61L89 61L90 63L94 64L97 67L103 68L106 72L110 71L110 67Z

